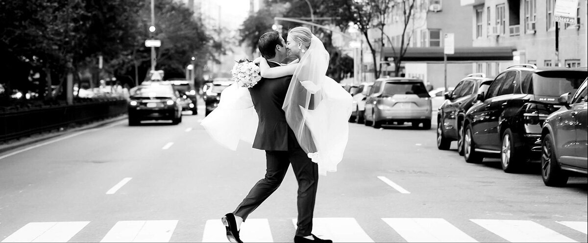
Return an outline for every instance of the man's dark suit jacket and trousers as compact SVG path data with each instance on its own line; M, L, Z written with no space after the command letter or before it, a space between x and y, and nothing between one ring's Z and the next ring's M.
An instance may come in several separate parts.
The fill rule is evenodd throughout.
M278 66L268 62L270 67ZM298 229L296 235L308 236L312 232L312 218L315 208L318 167L306 152L300 148L294 132L286 122L282 105L292 76L262 78L249 88L253 106L259 116L259 125L253 148L266 151L267 169L265 178L258 181L233 214L243 218L253 212L282 183L288 167L298 180Z

